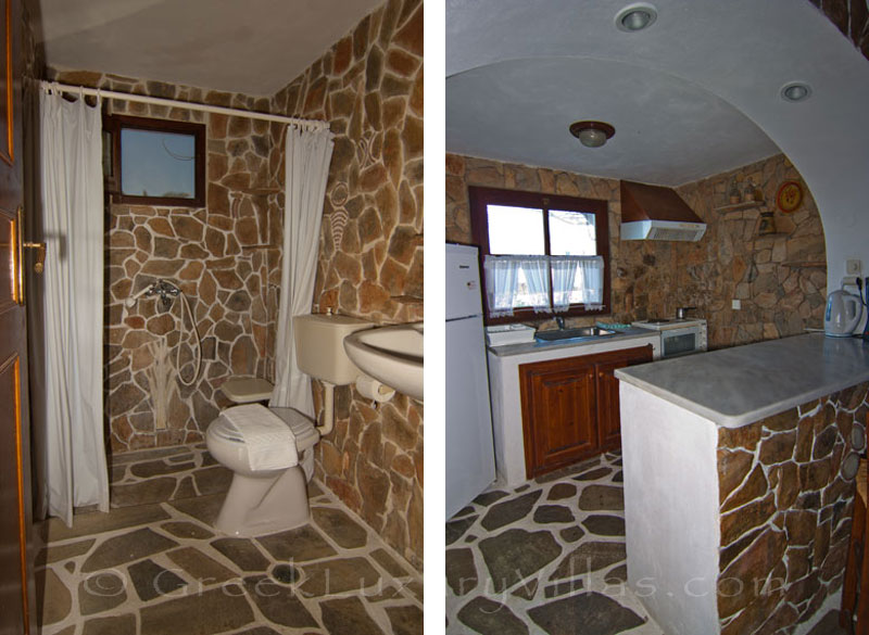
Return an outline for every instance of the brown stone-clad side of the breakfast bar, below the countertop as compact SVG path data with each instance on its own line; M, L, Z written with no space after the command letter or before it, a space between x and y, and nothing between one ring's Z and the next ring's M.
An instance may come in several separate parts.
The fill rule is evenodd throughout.
M791 633L842 586L854 481L840 469L868 389L719 429L722 635Z

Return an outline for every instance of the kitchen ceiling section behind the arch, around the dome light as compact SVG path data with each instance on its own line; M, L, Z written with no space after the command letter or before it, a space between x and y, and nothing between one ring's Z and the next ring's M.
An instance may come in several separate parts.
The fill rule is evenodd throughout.
M568 131L613 124L603 148ZM536 58L446 81L451 152L609 178L679 186L779 152L748 117L673 75L606 59Z

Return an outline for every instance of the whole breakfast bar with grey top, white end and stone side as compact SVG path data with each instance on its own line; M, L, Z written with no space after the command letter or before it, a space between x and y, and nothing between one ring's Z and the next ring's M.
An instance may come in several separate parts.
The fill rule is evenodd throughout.
M652 617L805 633L842 586L869 345L807 334L616 377L628 583Z

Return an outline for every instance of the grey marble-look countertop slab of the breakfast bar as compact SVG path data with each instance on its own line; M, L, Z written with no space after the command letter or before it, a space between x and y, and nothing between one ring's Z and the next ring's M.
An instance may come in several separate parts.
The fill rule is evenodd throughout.
M869 343L809 333L631 366L616 377L739 428L869 380Z

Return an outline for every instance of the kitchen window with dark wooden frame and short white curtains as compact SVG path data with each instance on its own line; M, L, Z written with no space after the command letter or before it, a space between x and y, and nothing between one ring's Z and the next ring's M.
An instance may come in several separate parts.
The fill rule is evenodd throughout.
M606 201L468 190L487 323L609 313Z

